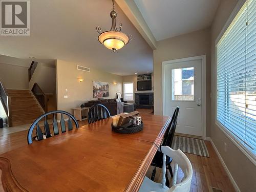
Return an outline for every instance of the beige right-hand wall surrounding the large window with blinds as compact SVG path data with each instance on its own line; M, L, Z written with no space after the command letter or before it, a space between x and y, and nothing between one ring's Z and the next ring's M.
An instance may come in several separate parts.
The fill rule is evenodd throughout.
M215 124L216 104L216 61L215 41L224 27L230 13L237 4L237 0L223 0L218 8L214 23L211 27L211 139L215 143L229 172L241 191L255 191L256 166L243 152L219 129ZM224 151L224 142L227 143L227 152Z

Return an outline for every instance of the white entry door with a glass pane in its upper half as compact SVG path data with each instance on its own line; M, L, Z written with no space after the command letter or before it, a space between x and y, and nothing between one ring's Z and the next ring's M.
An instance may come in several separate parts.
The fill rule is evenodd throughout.
M187 59L163 63L163 115L180 106L176 132L203 136L202 59Z

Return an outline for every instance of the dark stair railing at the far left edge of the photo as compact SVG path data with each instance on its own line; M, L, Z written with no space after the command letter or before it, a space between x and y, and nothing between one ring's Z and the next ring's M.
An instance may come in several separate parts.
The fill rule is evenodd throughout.
M11 97L8 95L3 83L0 81L0 100L4 106L5 113L8 117L8 125L12 126L11 118Z

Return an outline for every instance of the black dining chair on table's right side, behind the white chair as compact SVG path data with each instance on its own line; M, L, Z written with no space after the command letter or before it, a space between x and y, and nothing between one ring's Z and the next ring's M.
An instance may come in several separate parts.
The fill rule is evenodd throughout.
M164 139L163 139L163 142L162 142L161 146L172 147L172 142L173 142L174 133L175 133L175 130L176 130L179 110L180 110L180 107L177 106L174 113L173 113L172 120L169 122L167 130L165 132ZM155 157L154 157L154 159L152 160L152 163L151 163L151 165L154 166L152 176L151 176L152 181L154 181L154 179L155 179L156 167L162 168L162 164L163 164L162 156L163 156L163 154L162 154L162 152L159 148L159 150L157 151L157 153L156 153L156 155L155 155ZM172 166L170 166L170 163L172 163L172 158L167 157L166 158L166 167L170 172L170 176L173 177L173 169L172 169ZM168 179L167 172L166 172L165 177L166 177L166 186L169 186L169 179Z

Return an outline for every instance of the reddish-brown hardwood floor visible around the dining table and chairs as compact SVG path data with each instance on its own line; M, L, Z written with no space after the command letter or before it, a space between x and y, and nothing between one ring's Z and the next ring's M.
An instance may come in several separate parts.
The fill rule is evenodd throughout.
M152 110L141 109L138 109L138 111L140 113L152 112ZM88 124L87 120L79 121L79 126L85 124ZM25 130L0 136L0 154L27 145L27 133L28 131ZM193 179L190 191L212 192L211 186L220 188L225 192L235 191L211 143L205 141L205 144L208 148L209 158L186 153L186 156L193 166ZM151 178L152 168L153 167L150 167L147 171L146 176L149 178ZM181 169L179 169L178 182L181 181L182 177L183 173ZM159 168L157 168L155 181L161 183L161 169ZM170 179L170 183L172 183L172 179Z

